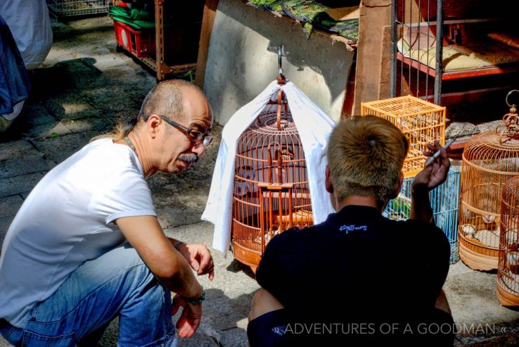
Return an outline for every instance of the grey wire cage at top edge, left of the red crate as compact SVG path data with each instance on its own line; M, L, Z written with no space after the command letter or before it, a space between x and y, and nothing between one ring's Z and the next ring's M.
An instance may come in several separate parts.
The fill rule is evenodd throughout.
M111 0L47 0L48 9L55 17L108 13Z

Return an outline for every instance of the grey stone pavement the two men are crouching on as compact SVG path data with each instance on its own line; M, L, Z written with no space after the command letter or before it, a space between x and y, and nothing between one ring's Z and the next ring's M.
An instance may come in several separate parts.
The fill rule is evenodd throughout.
M156 79L123 53L108 17L53 24L54 45L43 66L31 73L33 93L7 133L0 134L0 242L30 189L55 165L117 120L134 117ZM212 225L201 222L221 126L200 162L178 176L149 179L165 232L187 242L211 245ZM246 317L258 285L251 270L214 252L215 280L207 290L201 327L180 346L247 346ZM451 266L445 286L456 323L456 346L517 345L519 312L495 297L495 272ZM346 283L347 285L347 283ZM304 290L304 288L301 288ZM309 293L309 296L311 293ZM383 304L383 303L382 303ZM100 341L116 346L117 321ZM0 347L9 344L0 338Z

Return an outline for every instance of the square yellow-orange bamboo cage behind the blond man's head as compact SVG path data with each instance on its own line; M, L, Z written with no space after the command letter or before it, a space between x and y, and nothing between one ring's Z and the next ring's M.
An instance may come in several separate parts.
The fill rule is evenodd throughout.
M404 178L416 176L426 162L424 149L437 140L445 144L445 107L412 95L363 102L361 115L376 115L397 126L409 141L409 153L403 162Z

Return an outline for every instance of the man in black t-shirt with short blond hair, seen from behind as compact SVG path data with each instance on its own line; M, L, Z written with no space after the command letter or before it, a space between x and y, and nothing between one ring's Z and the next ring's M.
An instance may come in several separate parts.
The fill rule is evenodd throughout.
M338 123L325 182L337 212L268 243L249 315L251 346L453 344L441 289L450 247L432 224L428 198L450 162L438 143L428 149L426 156L440 156L412 182L410 220L390 221L382 212L401 189L405 136L370 115Z

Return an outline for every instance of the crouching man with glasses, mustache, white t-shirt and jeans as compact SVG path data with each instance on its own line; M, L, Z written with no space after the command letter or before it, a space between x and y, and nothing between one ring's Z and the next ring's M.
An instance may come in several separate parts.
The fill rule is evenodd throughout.
M165 236L145 178L179 173L211 142L212 112L188 82L161 82L138 117L48 172L0 257L0 332L14 345L94 346L119 317L120 346L174 346L197 330L208 248ZM176 293L171 299L170 292Z

